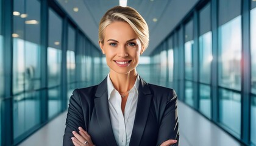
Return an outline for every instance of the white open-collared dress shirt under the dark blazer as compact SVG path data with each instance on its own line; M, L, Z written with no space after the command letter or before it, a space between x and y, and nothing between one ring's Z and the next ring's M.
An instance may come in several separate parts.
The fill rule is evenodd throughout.
M128 146L130 144L130 136L132 135L132 128L135 119L135 113L138 103L138 87L140 85L140 78L137 78L133 88L129 91L127 97L126 107L124 108L124 115L121 109L122 97L113 86L109 74L107 77L107 91L108 91L108 106L110 113L110 120L112 130L119 146Z

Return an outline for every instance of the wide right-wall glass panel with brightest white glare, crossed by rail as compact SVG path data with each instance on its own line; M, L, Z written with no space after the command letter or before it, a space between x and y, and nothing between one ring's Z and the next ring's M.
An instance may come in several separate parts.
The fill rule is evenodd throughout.
M219 86L241 91L241 1L219 1L218 6ZM219 93L220 123L240 137L241 95L221 88Z

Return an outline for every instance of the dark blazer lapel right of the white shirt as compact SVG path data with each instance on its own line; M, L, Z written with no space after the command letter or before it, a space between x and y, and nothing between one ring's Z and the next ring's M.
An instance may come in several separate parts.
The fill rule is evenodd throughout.
M146 83L140 77L140 86L138 89L138 104L135 114L135 120L133 123L132 136L130 137L129 145L140 145L141 136L148 119L149 108L151 105L152 94L149 89L148 83Z

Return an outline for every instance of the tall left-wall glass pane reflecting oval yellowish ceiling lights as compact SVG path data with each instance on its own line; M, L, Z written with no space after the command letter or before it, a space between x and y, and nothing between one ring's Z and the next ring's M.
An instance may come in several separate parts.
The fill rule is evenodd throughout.
M13 94L17 94L40 88L40 2L14 1L13 9L26 15L13 16Z

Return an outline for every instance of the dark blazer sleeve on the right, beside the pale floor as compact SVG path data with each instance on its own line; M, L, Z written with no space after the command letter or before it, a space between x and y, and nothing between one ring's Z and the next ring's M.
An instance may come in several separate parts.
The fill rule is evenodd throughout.
M168 100L165 106L165 111L160 122L158 131L157 145L161 145L168 139L176 139L178 142L172 146L179 145L179 122L177 113L177 95L172 89L169 92Z

